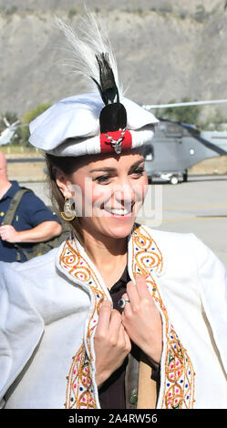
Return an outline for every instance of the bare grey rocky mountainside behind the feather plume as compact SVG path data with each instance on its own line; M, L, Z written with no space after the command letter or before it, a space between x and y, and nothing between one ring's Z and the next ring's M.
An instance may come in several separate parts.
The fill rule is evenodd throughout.
M129 97L141 104L227 98L226 0L86 3L108 25ZM82 11L77 0L0 0L0 115L88 90L64 66L67 45L54 19L77 28ZM225 110L204 111L212 108Z

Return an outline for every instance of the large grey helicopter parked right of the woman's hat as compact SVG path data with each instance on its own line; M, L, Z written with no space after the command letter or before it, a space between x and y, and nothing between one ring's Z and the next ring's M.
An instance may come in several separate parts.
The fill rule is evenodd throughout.
M205 104L222 104L226 99L211 101L191 101L157 106L142 106L148 110L196 106ZM144 148L145 169L149 182L156 179L178 184L188 180L188 169L206 158L226 156L226 147L202 138L196 126L173 120L159 118L154 137Z

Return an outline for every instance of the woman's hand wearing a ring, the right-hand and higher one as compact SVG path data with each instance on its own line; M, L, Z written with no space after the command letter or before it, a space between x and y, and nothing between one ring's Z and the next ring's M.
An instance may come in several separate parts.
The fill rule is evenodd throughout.
M146 280L138 277L136 283L127 284L127 294L123 299L129 300L122 313L122 324L139 348L154 362L160 362L162 352L162 322Z

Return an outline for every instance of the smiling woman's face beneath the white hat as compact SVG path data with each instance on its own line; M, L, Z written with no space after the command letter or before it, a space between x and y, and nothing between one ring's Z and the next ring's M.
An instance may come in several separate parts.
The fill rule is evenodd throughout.
M97 238L125 238L144 201L148 179L143 156L131 150L120 156L80 158L75 172L58 177L57 185L67 198L74 193L82 229Z

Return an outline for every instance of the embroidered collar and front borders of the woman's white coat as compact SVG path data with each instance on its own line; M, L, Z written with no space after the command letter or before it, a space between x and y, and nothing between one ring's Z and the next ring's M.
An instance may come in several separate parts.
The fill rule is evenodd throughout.
M160 362L160 393L157 408L192 408L194 403L194 371L188 352L177 335L159 288L159 276L165 260L157 243L145 226L135 226L129 236L128 270L131 280L146 277L150 294L157 305L163 326L163 351ZM95 381L94 333L103 300L111 301L108 288L96 266L76 237L67 239L57 253L57 268L90 295L90 308L82 344L73 357L67 375L67 408L98 408ZM143 392L144 395L144 392ZM146 395L146 393L145 393ZM141 408L141 404L140 404Z

